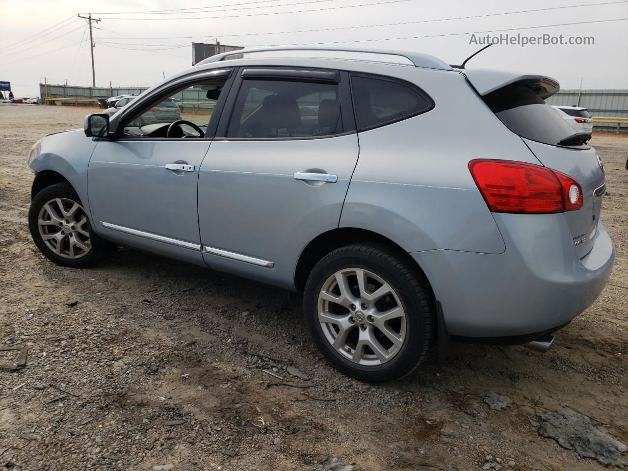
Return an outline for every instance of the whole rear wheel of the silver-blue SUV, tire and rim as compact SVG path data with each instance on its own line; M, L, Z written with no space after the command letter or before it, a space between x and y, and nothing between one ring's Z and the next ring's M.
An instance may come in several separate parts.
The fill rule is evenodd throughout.
M431 346L435 311L425 278L386 247L337 249L311 271L304 310L323 355L367 382L411 373Z

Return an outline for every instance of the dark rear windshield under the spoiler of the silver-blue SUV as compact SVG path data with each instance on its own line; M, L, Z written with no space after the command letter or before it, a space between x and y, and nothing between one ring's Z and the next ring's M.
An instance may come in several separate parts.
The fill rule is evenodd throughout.
M558 146L563 139L576 133L575 129L525 82L506 85L485 95L483 99L495 116L522 138ZM568 147L572 148L588 148L580 142L571 141L568 144L570 144Z

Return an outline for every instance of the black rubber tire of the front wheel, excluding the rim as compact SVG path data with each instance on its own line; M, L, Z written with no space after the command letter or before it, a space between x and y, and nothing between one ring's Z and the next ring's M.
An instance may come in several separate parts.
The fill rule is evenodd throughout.
M51 185L50 187L46 187L41 192L35 195L33 198L33 202L31 202L31 207L28 211L28 228L31 232L31 237L33 237L33 241L40 252L50 261L56 263L57 265L68 266L72 268L89 268L94 266L96 263L100 261L102 256L106 254L108 251L111 251L112 244L111 242L107 242L104 239L101 239L97 236L94 231L91 229L91 225L89 219L87 220L87 229L89 232L89 241L91 247L89 251L87 251L84 255L77 258L67 258L56 254L46 243L44 242L38 225L39 215L41 212L41 208L50 200L55 198L65 198L67 200L72 200L73 202L78 203L83 206L80 202L80 198L78 198L77 193L72 188L70 183L57 183L55 185Z

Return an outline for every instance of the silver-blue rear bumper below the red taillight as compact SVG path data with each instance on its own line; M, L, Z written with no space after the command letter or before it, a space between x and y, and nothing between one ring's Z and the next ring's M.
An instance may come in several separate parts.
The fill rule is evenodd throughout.
M595 301L615 259L601 221L593 248L578 259L563 214L494 217L506 242L502 254L410 254L430 280L450 335L522 343L566 325Z

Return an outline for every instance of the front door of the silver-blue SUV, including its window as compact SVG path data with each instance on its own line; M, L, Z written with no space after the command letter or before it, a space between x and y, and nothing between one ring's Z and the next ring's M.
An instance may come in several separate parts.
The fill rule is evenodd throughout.
M203 264L198 170L211 143L205 131L216 85L225 80L200 80L170 90L123 117L119 139L97 143L87 175L96 232Z

